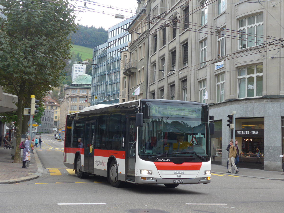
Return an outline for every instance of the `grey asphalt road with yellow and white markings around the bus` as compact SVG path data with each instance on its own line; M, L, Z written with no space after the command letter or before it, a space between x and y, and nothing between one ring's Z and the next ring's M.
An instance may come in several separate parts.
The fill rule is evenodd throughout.
M207 185L114 188L104 177L77 178L63 165L63 142L42 138L37 154L46 173L0 185L1 212L283 212L283 181L212 175Z

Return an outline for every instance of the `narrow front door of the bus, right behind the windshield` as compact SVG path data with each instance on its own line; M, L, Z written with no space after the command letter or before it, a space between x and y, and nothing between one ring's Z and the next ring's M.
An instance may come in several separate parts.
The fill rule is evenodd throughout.
M135 181L135 157L136 157L136 117L127 118L126 122L126 178Z

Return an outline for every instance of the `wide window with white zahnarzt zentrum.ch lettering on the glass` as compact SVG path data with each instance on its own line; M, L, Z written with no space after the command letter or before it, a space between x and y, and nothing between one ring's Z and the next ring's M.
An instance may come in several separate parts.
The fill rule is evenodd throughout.
M262 96L262 64L239 68L238 98Z

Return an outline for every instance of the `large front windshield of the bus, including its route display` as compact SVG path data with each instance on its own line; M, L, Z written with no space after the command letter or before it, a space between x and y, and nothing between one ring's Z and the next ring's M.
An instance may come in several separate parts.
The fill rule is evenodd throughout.
M141 106L144 119L137 143L141 159L210 160L207 105L145 101Z

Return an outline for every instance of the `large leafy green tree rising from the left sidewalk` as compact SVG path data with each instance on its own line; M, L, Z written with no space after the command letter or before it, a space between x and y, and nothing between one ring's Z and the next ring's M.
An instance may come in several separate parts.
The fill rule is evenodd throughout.
M0 16L0 86L18 96L14 162L19 163L23 108L30 108L30 95L41 100L62 82L76 15L67 0L0 4L5 17Z

